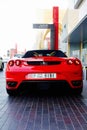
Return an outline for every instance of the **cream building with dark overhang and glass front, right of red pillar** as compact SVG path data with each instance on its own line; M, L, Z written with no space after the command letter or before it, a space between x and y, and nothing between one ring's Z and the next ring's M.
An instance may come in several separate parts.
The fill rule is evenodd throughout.
M62 20L62 45L68 56L81 59L87 65L87 0L70 0Z

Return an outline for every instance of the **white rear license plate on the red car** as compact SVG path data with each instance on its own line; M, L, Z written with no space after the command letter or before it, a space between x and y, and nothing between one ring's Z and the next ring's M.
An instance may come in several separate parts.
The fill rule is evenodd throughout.
M56 78L56 73L33 73L33 74L28 74L26 78L50 79L50 78Z

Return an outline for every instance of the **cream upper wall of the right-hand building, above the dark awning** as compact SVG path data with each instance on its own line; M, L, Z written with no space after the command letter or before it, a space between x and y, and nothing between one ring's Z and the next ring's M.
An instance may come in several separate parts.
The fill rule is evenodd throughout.
M65 39L68 34L74 29L79 21L79 11L74 9L67 9L62 20L62 34L61 39Z

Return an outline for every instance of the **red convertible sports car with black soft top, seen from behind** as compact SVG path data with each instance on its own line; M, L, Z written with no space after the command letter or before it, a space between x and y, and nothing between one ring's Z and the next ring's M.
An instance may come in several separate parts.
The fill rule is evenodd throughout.
M61 50L31 50L22 58L8 61L6 90L9 95L14 95L23 89L64 87L81 94L82 75L82 64L78 58L67 57Z

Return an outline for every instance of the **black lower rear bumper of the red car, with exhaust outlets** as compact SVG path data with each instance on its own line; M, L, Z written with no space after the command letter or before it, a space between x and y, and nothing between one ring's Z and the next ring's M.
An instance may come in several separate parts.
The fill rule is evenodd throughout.
M66 80L24 80L20 84L16 81L7 81L7 89L62 89L62 88L81 88L82 80L74 80L71 84Z

